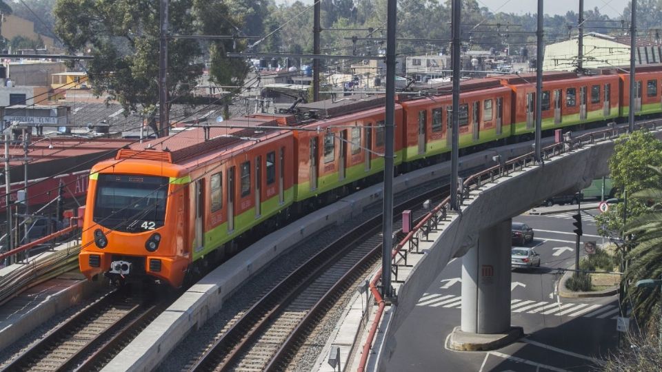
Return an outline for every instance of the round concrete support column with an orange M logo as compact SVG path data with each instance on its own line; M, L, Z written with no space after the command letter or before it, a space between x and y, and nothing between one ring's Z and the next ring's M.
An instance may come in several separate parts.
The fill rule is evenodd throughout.
M463 332L510 330L510 225L508 219L480 231L478 246L462 258Z

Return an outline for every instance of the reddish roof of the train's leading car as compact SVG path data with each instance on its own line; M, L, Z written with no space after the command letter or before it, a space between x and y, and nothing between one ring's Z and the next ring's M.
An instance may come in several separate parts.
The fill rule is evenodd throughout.
M208 127L190 127L167 138L134 143L117 152L116 159L132 158L182 164L214 151L254 143L280 134L275 118L242 116ZM209 134L205 135L208 130Z

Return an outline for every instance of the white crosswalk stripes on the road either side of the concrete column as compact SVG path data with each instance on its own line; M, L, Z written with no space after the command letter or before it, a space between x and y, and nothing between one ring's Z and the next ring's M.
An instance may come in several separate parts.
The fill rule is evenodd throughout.
M445 307L461 309L461 296L445 295L441 293L425 293L417 303L421 307ZM514 298L510 300L510 311L513 313L540 314L547 316L567 316L569 318L598 318L615 319L619 308L613 304L588 304L574 302L536 302L534 300L521 300Z

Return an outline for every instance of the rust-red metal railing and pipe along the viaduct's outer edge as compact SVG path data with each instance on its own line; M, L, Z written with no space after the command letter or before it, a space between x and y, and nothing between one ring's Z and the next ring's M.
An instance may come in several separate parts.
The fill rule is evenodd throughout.
M660 123L659 120L650 120L650 121L637 123L637 126L639 127L639 129L647 128L649 130L651 129L656 130L658 123ZM620 134L627 132L628 132L627 126L618 127L616 126L616 123L611 123L610 128L608 129L596 130L594 132L582 134L581 136L577 136L575 138L570 138L570 140L568 141L561 141L549 145L547 147L543 147L543 149L541 149L541 158L543 161L545 161L552 158L553 156L564 154L565 152L571 152L574 149L579 149L583 147L583 145L585 144L611 141L612 139L618 137ZM461 196L461 198L463 198L465 196L468 196L470 190L478 189L479 187L481 187L481 183L483 182L483 177L489 178L491 181L494 181L495 174L496 174L496 178L500 178L502 176L508 176L510 172L515 172L518 169L518 167L521 170L527 167L528 165L532 165L532 164L536 164L536 158L534 152L529 152L522 156L512 158L509 161L505 161L503 164L494 165L494 167L490 167L481 172L478 172L477 174L473 174L472 176L469 176L463 182L462 190L460 190L461 192L459 192L459 195ZM412 243L414 237L421 233L425 234L423 228L430 226L431 221L434 222L434 225L438 226L439 220L445 219L447 215L447 211L450 207L451 205L450 205L450 196L449 196L443 199L443 201L439 203L437 207L434 207L434 209L428 212L428 214L423 216L423 218L421 218L419 223L417 223L417 225L414 226L414 228L391 251L391 260L394 261L396 259L400 251L403 249L403 247L405 247L405 245L409 246L408 248L409 251L412 249L412 247L417 246L416 244ZM372 296L374 296L374 301L377 302L377 304L379 304L379 307L377 308L377 313L375 313L374 320L372 321L372 324L370 326L370 332L368 333L368 338L365 340L365 344L363 344L363 352L361 353L361 360L359 362L359 368L357 369L358 372L365 371L365 366L366 364L368 364L368 355L370 355L370 349L372 348L372 342L374 341L374 335L377 334L377 328L379 328L379 322L381 322L381 316L383 315L383 311L386 307L386 302L381 297L381 293L379 293L379 289L377 289L377 283L379 282L379 280L381 280L381 274L382 274L382 270L379 269L379 271L377 271L377 274L374 276L372 281L370 281L370 292L372 293Z

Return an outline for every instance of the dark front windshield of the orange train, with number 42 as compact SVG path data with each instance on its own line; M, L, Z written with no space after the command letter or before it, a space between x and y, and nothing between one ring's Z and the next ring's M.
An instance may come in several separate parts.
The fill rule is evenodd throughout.
M99 174L94 222L117 231L141 232L163 226L168 178Z

